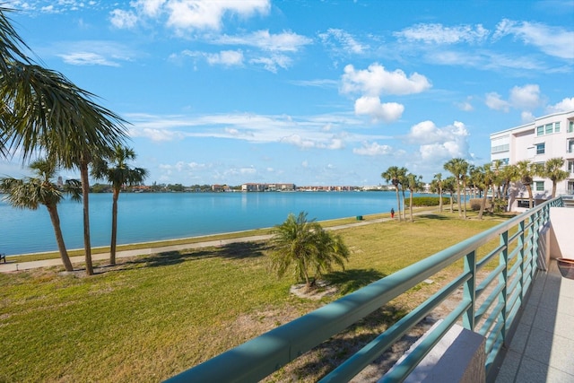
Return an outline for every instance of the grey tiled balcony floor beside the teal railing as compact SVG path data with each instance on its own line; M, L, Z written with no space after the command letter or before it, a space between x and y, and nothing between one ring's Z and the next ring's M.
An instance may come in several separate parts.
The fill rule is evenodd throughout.
M574 280L554 260L535 279L495 381L574 382Z

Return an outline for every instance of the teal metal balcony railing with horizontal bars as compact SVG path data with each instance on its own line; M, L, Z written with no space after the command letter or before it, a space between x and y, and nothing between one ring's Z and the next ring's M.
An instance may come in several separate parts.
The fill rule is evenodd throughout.
M538 270L538 237L550 221L552 206L562 206L561 197L370 283L168 381L251 382L264 379L460 259L464 260L461 274L321 381L352 379L460 288L464 293L457 307L404 361L385 375L383 381L402 381L457 322L486 338L485 369L488 375ZM498 245L496 239L499 239Z

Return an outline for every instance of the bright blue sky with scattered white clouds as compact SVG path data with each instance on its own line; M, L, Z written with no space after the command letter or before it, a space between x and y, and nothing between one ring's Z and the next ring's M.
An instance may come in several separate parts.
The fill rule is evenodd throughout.
M148 185L378 185L394 165L430 181L574 109L574 0L6 5L43 65L130 123Z

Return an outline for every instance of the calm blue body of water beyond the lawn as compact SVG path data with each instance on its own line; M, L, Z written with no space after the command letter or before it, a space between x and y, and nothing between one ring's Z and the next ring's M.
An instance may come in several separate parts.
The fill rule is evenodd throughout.
M111 194L90 195L91 246L109 246ZM396 209L394 192L125 193L118 201L117 244L245 231L280 224L289 213L318 221ZM58 205L66 248L83 248L83 205ZM14 209L0 201L0 252L57 250L45 206Z

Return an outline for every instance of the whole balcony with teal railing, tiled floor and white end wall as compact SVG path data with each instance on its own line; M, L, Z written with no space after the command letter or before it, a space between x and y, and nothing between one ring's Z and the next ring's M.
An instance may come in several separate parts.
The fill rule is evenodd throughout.
M379 381L421 380L413 378L414 374L420 373L422 365L432 369L427 355L443 347L451 330L457 327L480 340L474 354L477 356L471 355L469 359L475 366L478 363L478 369L466 376L471 379L467 381L574 381L574 363L570 362L574 351L574 332L571 331L574 281L562 278L550 257L551 253L574 257L567 254L574 250L574 239L570 239L568 232L574 210L563 206L561 197L538 205L240 344L169 381L265 379L451 265L460 265L460 274L443 283L438 292L370 340L321 381L352 380L372 366L397 340L445 305L448 309L442 310L442 318L413 344L404 359L391 370L380 370ZM552 218L552 224L551 216L556 217ZM453 344L447 344L447 351ZM459 364L450 363L442 379L436 378L438 375L432 379L429 375L426 381L459 381L461 379L454 378L457 367Z

